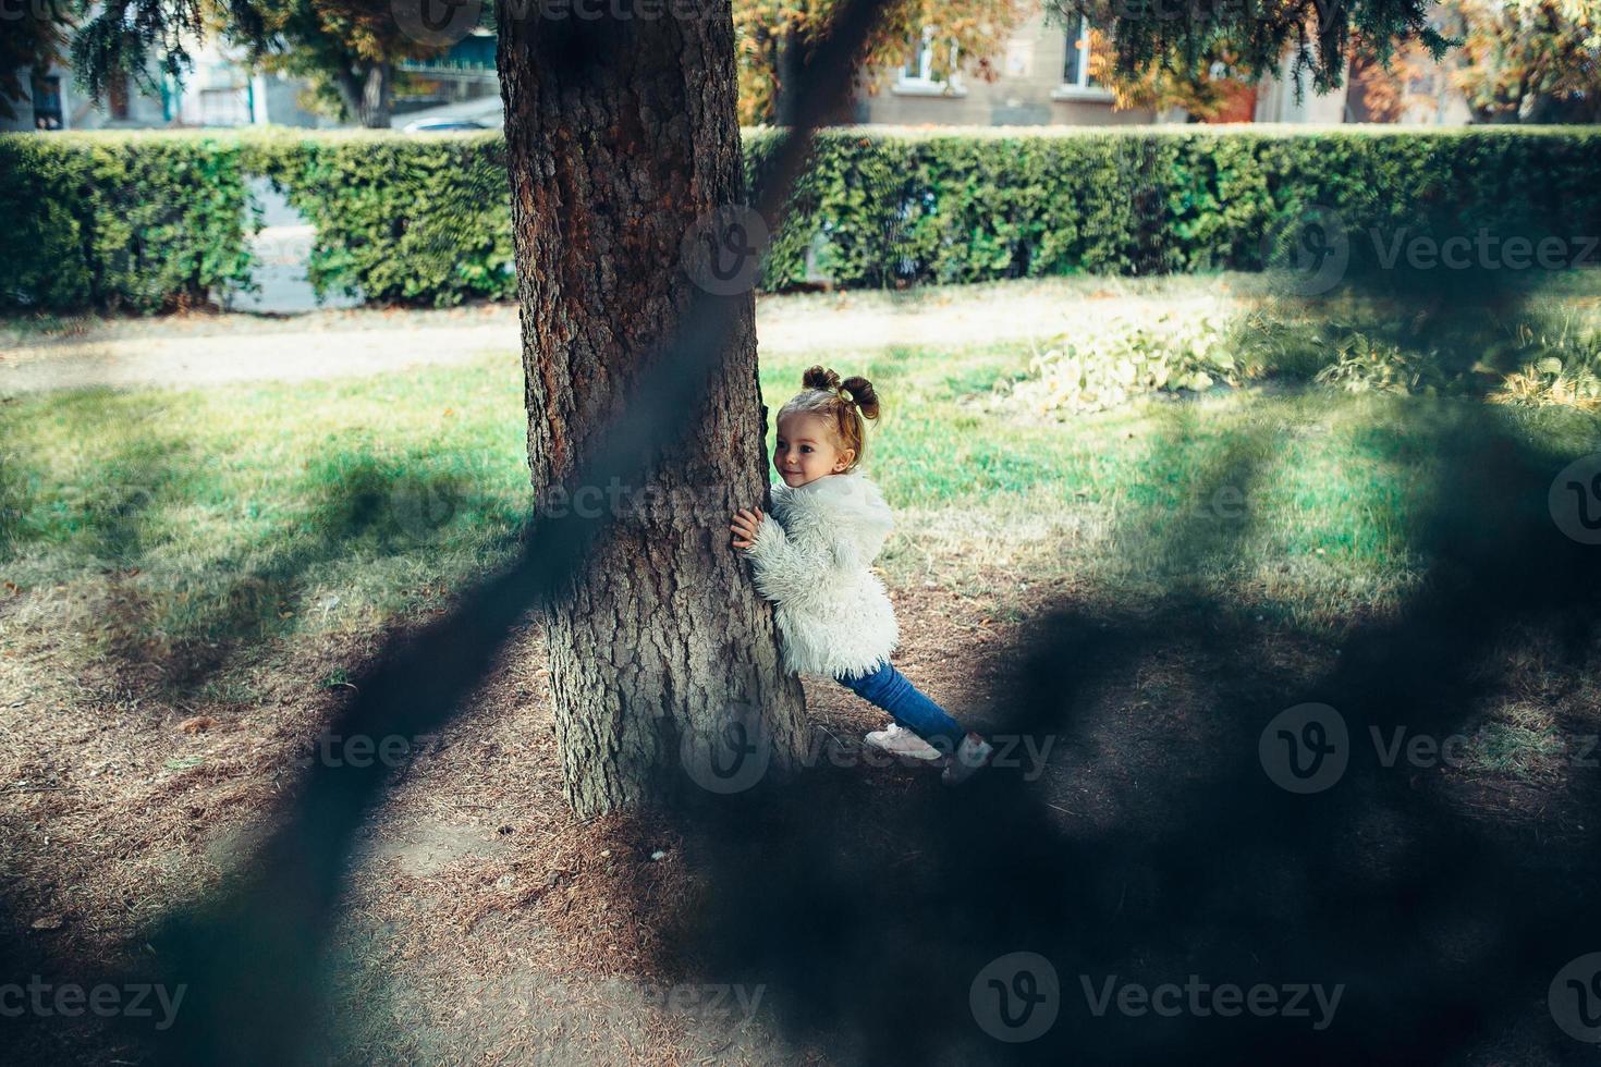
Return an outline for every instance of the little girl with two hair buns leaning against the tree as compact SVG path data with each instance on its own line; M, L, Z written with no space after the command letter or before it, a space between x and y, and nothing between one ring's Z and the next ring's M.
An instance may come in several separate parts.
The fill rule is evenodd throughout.
M919 760L951 755L941 781L954 785L993 749L889 661L900 640L895 611L868 565L893 520L877 486L857 470L866 443L863 416L879 418L877 395L868 379L842 384L821 366L800 384L802 392L778 411L773 466L783 485L772 490L773 514L735 512L733 547L746 550L757 590L778 605L784 665L829 675L889 712L895 723L869 733L868 744Z

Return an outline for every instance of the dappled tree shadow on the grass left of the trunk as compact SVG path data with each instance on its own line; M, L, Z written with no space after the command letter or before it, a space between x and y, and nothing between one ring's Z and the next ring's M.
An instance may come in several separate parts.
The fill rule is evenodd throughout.
M91 440L106 400L106 390L85 390L53 411L72 440ZM501 515L469 474L437 456L344 451L307 466L288 490L288 514L253 544L235 547L229 537L191 549L175 525L216 491L205 462L187 437L149 426L125 430L98 464L99 477L78 485L51 486L59 478L43 458L19 456L0 469L8 558L54 552L94 574L90 651L170 696L191 696L240 654L293 633L317 608L306 600L309 576L328 565L362 553L416 557L426 566L466 523L488 515L512 531L511 550L522 522Z

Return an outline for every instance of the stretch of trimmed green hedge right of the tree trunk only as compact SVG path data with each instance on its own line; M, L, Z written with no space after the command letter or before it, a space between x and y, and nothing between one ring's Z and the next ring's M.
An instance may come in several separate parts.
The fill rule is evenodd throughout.
M759 166L770 141L749 147ZM842 286L1260 270L1314 210L1361 272L1402 227L1434 242L1601 234L1598 160L1601 133L1574 128L833 131L765 285L804 282L809 243Z

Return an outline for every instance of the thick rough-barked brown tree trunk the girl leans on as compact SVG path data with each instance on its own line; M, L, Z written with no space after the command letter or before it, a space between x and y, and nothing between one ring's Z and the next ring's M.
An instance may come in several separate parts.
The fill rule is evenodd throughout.
M780 670L772 611L728 534L733 507L767 493L751 293L725 298L740 314L724 374L701 411L682 413L688 434L652 458L647 486L548 494L688 307L680 238L740 198L732 8L695 6L684 21L660 10L591 21L500 8L533 490L552 509L620 514L544 614L567 798L581 816L698 779L680 742L701 752L730 720L754 717L778 768L804 729L799 681Z

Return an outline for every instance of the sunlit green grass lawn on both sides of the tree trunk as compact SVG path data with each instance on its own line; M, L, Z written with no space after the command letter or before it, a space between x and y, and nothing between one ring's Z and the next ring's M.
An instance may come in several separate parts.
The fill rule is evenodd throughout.
M1486 435L1556 466L1598 443L1572 408L1316 387L1033 419L991 395L1036 350L764 360L770 410L813 362L876 382L868 470L900 522L879 561L892 587L996 611L1007 582L1066 582L1106 605L1204 595L1337 633L1415 589L1443 461ZM532 498L514 354L368 379L24 395L0 430L0 581L56 593L88 638L66 654L373 630L506 558Z

